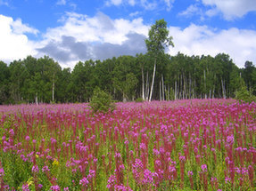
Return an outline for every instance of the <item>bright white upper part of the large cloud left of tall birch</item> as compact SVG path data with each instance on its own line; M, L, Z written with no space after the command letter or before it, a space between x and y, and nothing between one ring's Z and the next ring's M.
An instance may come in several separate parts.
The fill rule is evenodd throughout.
M62 36L74 36L82 42L102 42L121 44L126 40L130 32L147 35L148 27L143 20L111 20L107 15L98 12L95 17L68 13L62 19L63 25L57 28L48 28L45 33L45 41L61 40Z

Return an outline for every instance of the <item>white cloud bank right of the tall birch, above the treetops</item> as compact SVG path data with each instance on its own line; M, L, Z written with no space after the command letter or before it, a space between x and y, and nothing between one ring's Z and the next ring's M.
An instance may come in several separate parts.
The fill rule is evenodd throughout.
M211 55L224 52L229 54L235 64L242 68L246 60L256 63L256 32L229 28L214 30L207 26L190 25L185 29L170 27L175 47L169 49L171 55L178 52L187 55Z

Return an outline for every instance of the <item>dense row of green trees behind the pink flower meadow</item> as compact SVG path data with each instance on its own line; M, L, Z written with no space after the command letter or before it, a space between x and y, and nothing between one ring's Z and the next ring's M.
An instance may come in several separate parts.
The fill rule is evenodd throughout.
M154 58L146 54L108 60L79 61L61 68L53 59L0 61L0 104L87 102L96 86L113 99L149 99ZM227 54L157 58L152 99L233 98L246 85L256 93L256 68L246 61L237 68Z

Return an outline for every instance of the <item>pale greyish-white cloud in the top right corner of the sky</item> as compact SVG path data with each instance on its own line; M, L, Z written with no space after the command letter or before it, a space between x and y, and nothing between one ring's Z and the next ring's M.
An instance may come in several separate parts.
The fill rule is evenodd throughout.
M226 20L241 18L256 11L255 0L202 0L202 4L213 6L212 12L222 12Z

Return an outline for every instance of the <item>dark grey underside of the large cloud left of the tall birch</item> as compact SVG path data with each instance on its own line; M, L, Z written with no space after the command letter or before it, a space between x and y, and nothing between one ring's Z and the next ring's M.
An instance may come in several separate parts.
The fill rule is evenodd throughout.
M78 42L73 36L62 36L61 41L51 41L37 51L62 63L78 60L105 60L121 55L145 53L145 36L129 33L122 44Z

